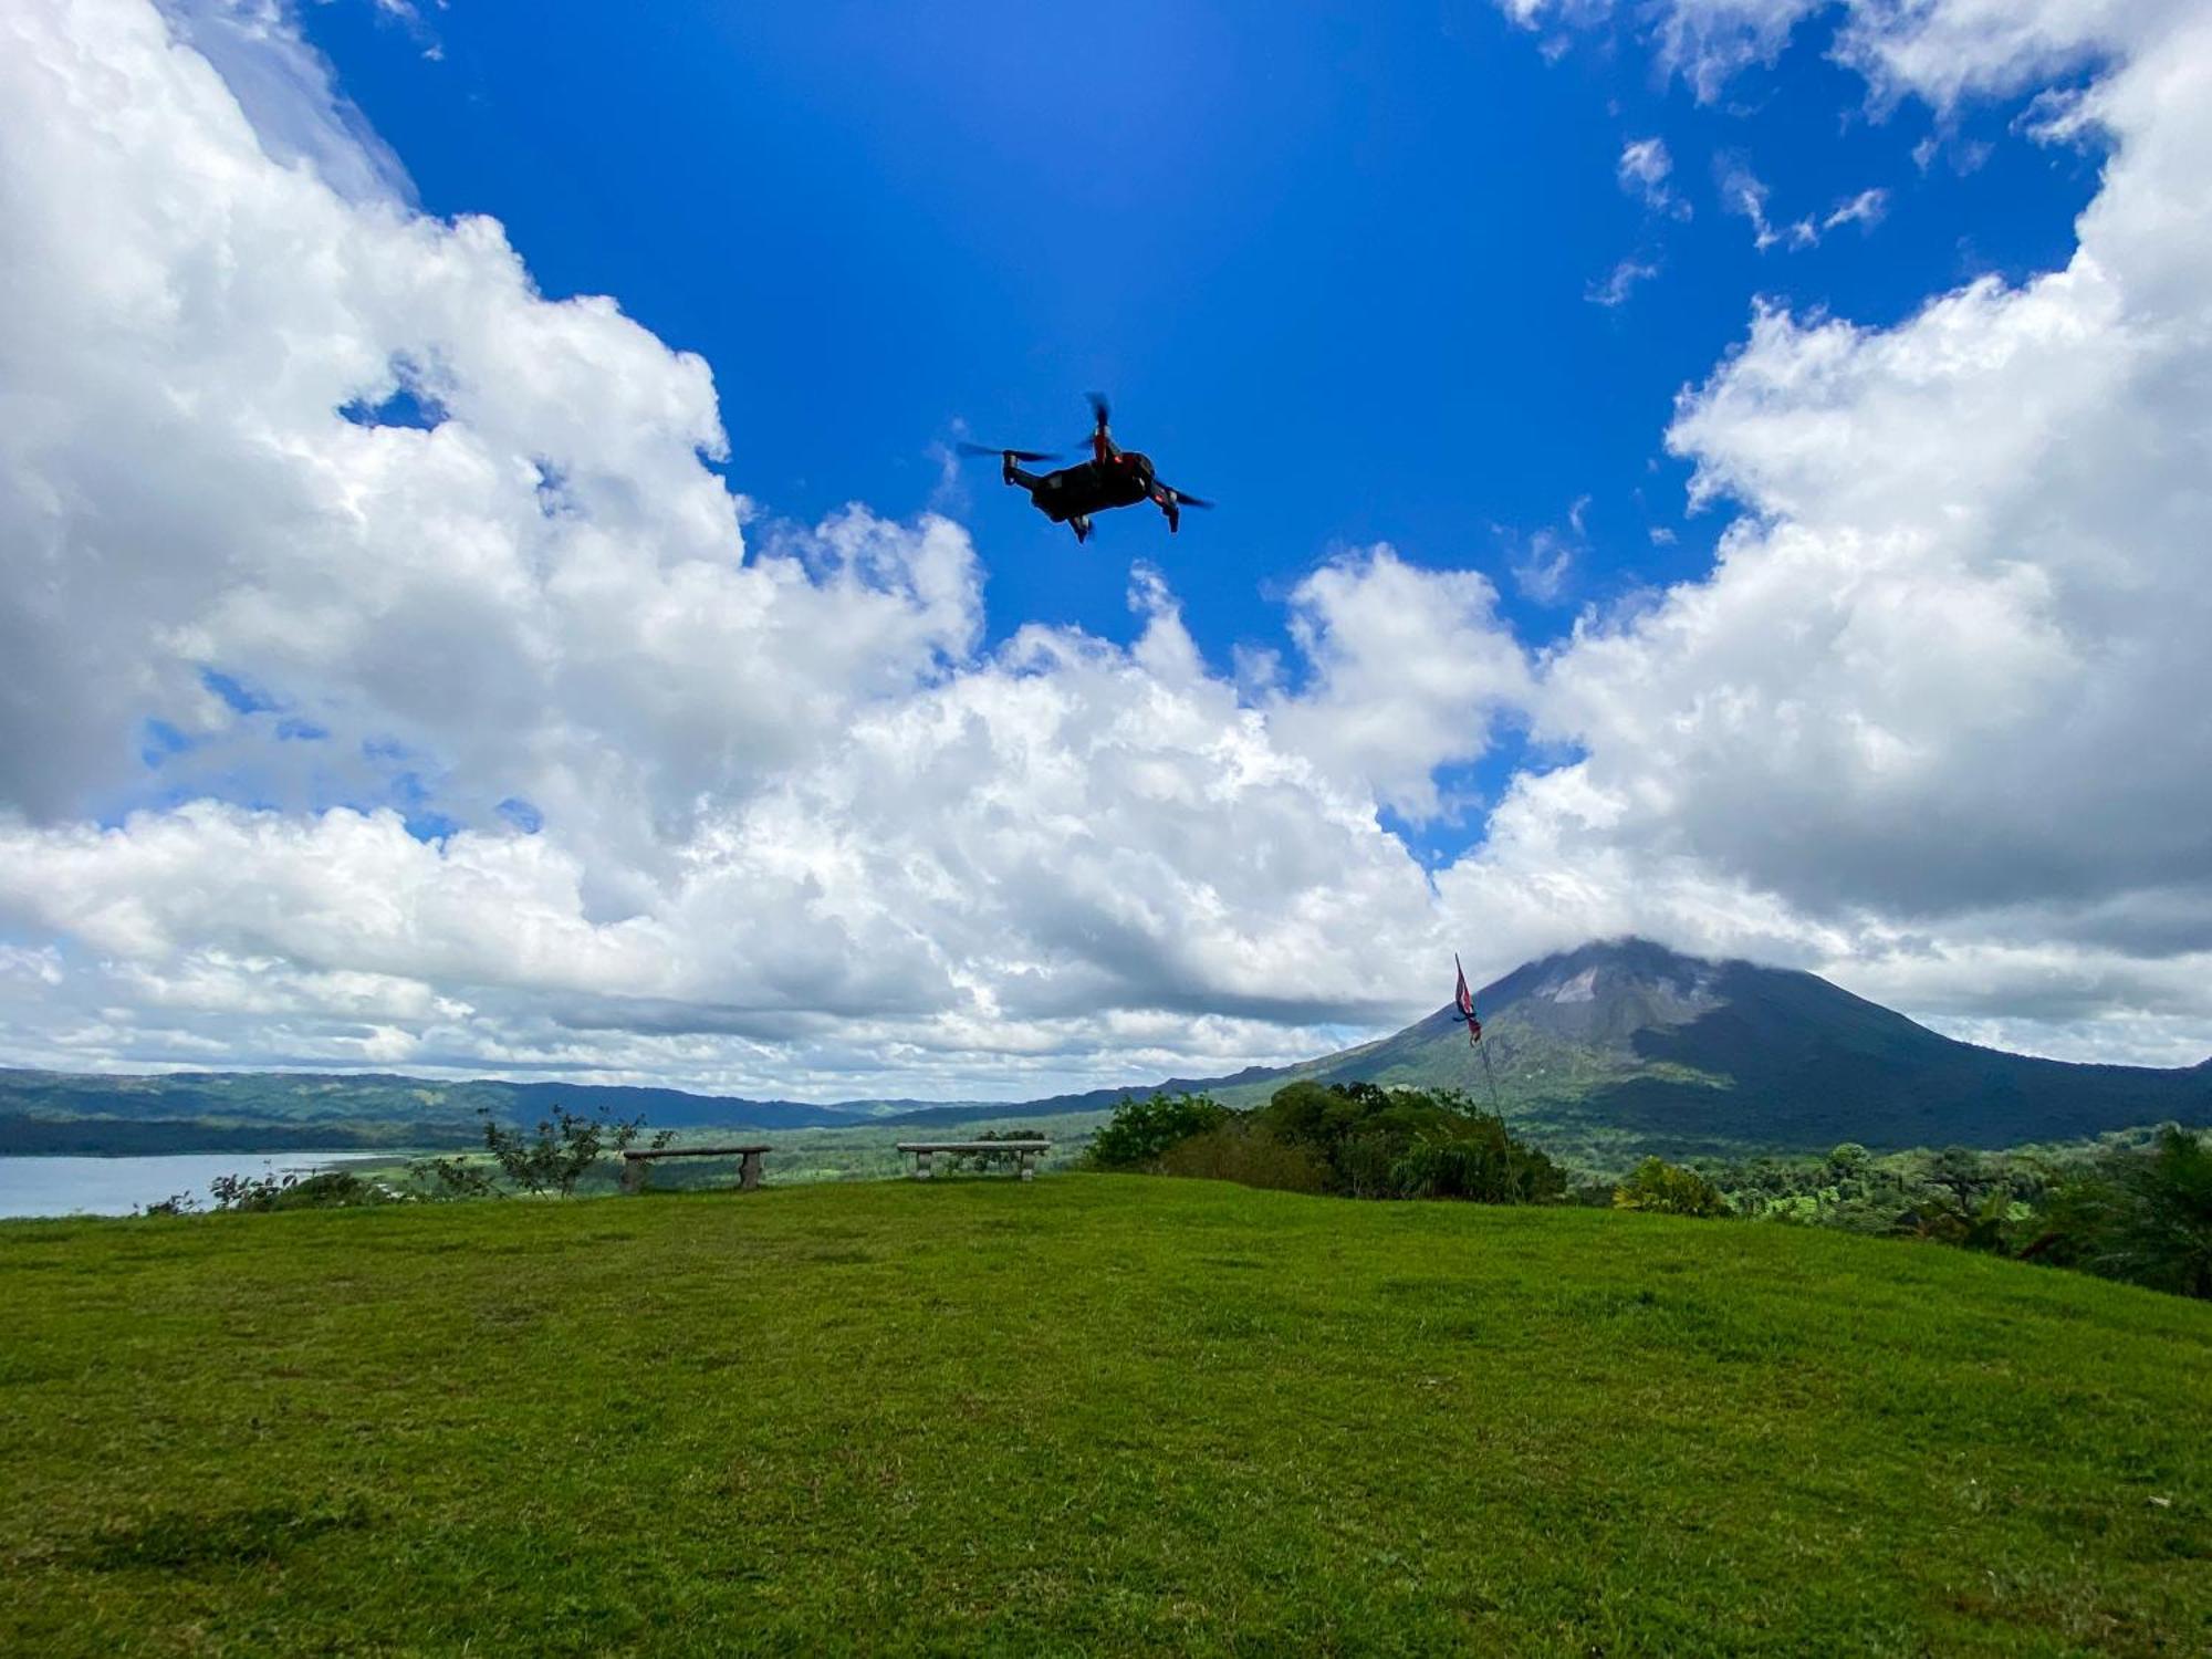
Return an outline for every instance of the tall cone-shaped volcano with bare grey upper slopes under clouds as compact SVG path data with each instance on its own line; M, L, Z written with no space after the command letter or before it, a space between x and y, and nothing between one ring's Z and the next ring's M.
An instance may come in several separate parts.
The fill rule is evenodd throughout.
M1462 1088L1517 1124L1677 1152L2022 1146L2212 1124L2212 1064L2081 1066L1958 1042L1816 973L1584 945L1475 995L1482 1048L1449 1004L1396 1035L1283 1068L1177 1079L1230 1106L1287 1082Z

